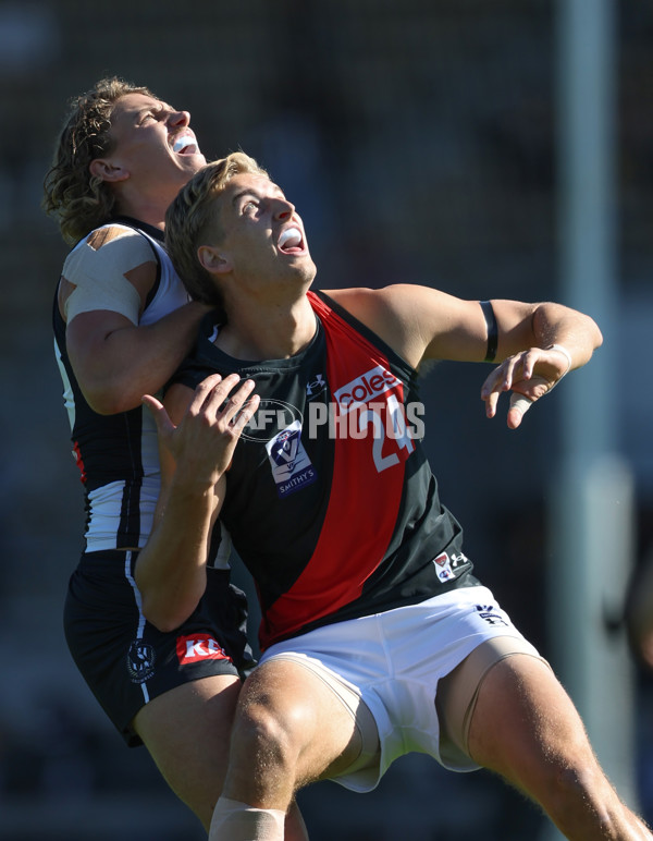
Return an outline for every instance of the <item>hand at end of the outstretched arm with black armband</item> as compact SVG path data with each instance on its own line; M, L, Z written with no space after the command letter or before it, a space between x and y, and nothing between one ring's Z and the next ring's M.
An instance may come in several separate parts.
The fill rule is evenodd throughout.
M532 404L547 394L570 367L568 353L559 348L530 348L508 356L492 370L481 388L485 415L494 417L500 395L512 391L507 419L508 427L516 429Z

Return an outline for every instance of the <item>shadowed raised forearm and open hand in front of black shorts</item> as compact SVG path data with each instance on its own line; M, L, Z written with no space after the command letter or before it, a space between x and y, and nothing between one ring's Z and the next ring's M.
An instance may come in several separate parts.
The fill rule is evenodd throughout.
M136 562L143 612L160 631L178 627L206 588L211 531L225 493L225 472L259 403L254 382L207 377L195 391L173 386L167 405L151 395L161 454L155 527ZM176 424L176 425L175 425Z

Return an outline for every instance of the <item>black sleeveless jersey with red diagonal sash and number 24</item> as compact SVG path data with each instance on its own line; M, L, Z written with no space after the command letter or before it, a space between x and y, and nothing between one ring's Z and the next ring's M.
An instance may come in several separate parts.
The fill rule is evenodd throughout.
M317 331L300 353L235 359L213 344L209 314L175 376L195 388L235 371L261 397L221 520L257 583L262 650L478 584L421 440L408 434L417 373L325 293L308 295Z

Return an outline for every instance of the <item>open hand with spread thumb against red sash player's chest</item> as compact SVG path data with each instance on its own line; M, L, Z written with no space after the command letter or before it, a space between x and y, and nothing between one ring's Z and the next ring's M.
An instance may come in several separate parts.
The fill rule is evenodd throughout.
M254 385L251 380L243 382L237 374L224 379L211 374L195 389L177 426L157 398L143 397L160 440L176 462L177 474L210 486L226 471L243 429L259 406L260 398L251 393Z

